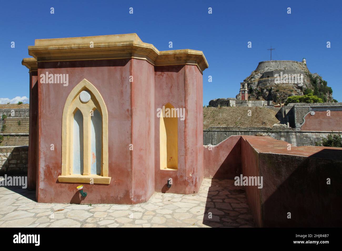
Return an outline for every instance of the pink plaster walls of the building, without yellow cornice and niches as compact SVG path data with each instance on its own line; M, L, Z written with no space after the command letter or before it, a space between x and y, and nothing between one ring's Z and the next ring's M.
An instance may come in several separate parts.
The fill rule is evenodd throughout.
M68 86L41 84L40 74L45 72L68 74ZM131 75L133 82L129 82ZM98 89L107 107L111 177L109 185L84 184L85 199L76 190L78 184L58 182L64 104L83 79ZM136 204L155 191L187 194L199 190L203 179L203 89L196 66L154 67L138 59L39 62L38 82L38 202ZM175 171L159 169L156 109L167 102L186 109L185 120L178 118L179 169ZM169 178L173 178L170 190L166 187Z

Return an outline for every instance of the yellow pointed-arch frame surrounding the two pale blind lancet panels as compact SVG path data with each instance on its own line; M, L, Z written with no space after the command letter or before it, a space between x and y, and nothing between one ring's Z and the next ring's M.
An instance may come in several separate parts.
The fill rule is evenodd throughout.
M87 103L81 103L79 94L83 90L88 90L91 99ZM90 174L90 110L97 109L102 115L102 168L101 176ZM83 114L83 175L73 174L72 170L72 122L75 109L79 109ZM88 80L83 79L78 83L66 99L62 117L62 173L58 176L58 181L69 183L94 183L109 184L108 177L108 113L106 104L101 94Z

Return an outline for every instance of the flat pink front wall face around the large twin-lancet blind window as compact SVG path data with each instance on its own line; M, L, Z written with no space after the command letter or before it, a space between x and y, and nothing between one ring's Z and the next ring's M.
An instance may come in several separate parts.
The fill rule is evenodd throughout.
M131 167L132 159L136 157L129 151L129 144L132 142L132 84L129 82L129 76L132 75L131 64L132 61L128 59L38 63L38 77L46 71L69 74L68 86L39 83L38 202L134 203L131 194L134 175L132 176ZM77 184L58 182L62 164L63 108L71 90L83 79L87 79L98 89L107 106L108 169L111 177L109 185L84 184L84 191L88 193L84 201L76 190ZM136 122L133 122L134 128ZM146 135L142 134L140 140L147 141ZM55 145L54 151L50 150L52 143ZM145 165L139 168L145 168ZM138 199L144 198L139 196Z

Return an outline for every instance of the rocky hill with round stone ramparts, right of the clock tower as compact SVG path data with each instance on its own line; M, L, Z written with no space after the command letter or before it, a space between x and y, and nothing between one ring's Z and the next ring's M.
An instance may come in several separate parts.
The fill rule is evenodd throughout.
M332 89L317 73L311 73L306 61L272 60L262 61L245 80L249 100L286 101L293 95L313 93L324 102L337 102ZM236 96L240 99L240 95Z

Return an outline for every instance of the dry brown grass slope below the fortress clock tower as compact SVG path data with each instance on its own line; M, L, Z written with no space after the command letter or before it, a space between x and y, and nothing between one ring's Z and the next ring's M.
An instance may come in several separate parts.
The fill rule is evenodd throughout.
M211 126L272 127L279 122L275 115L275 111L263 107L205 107L203 129Z

